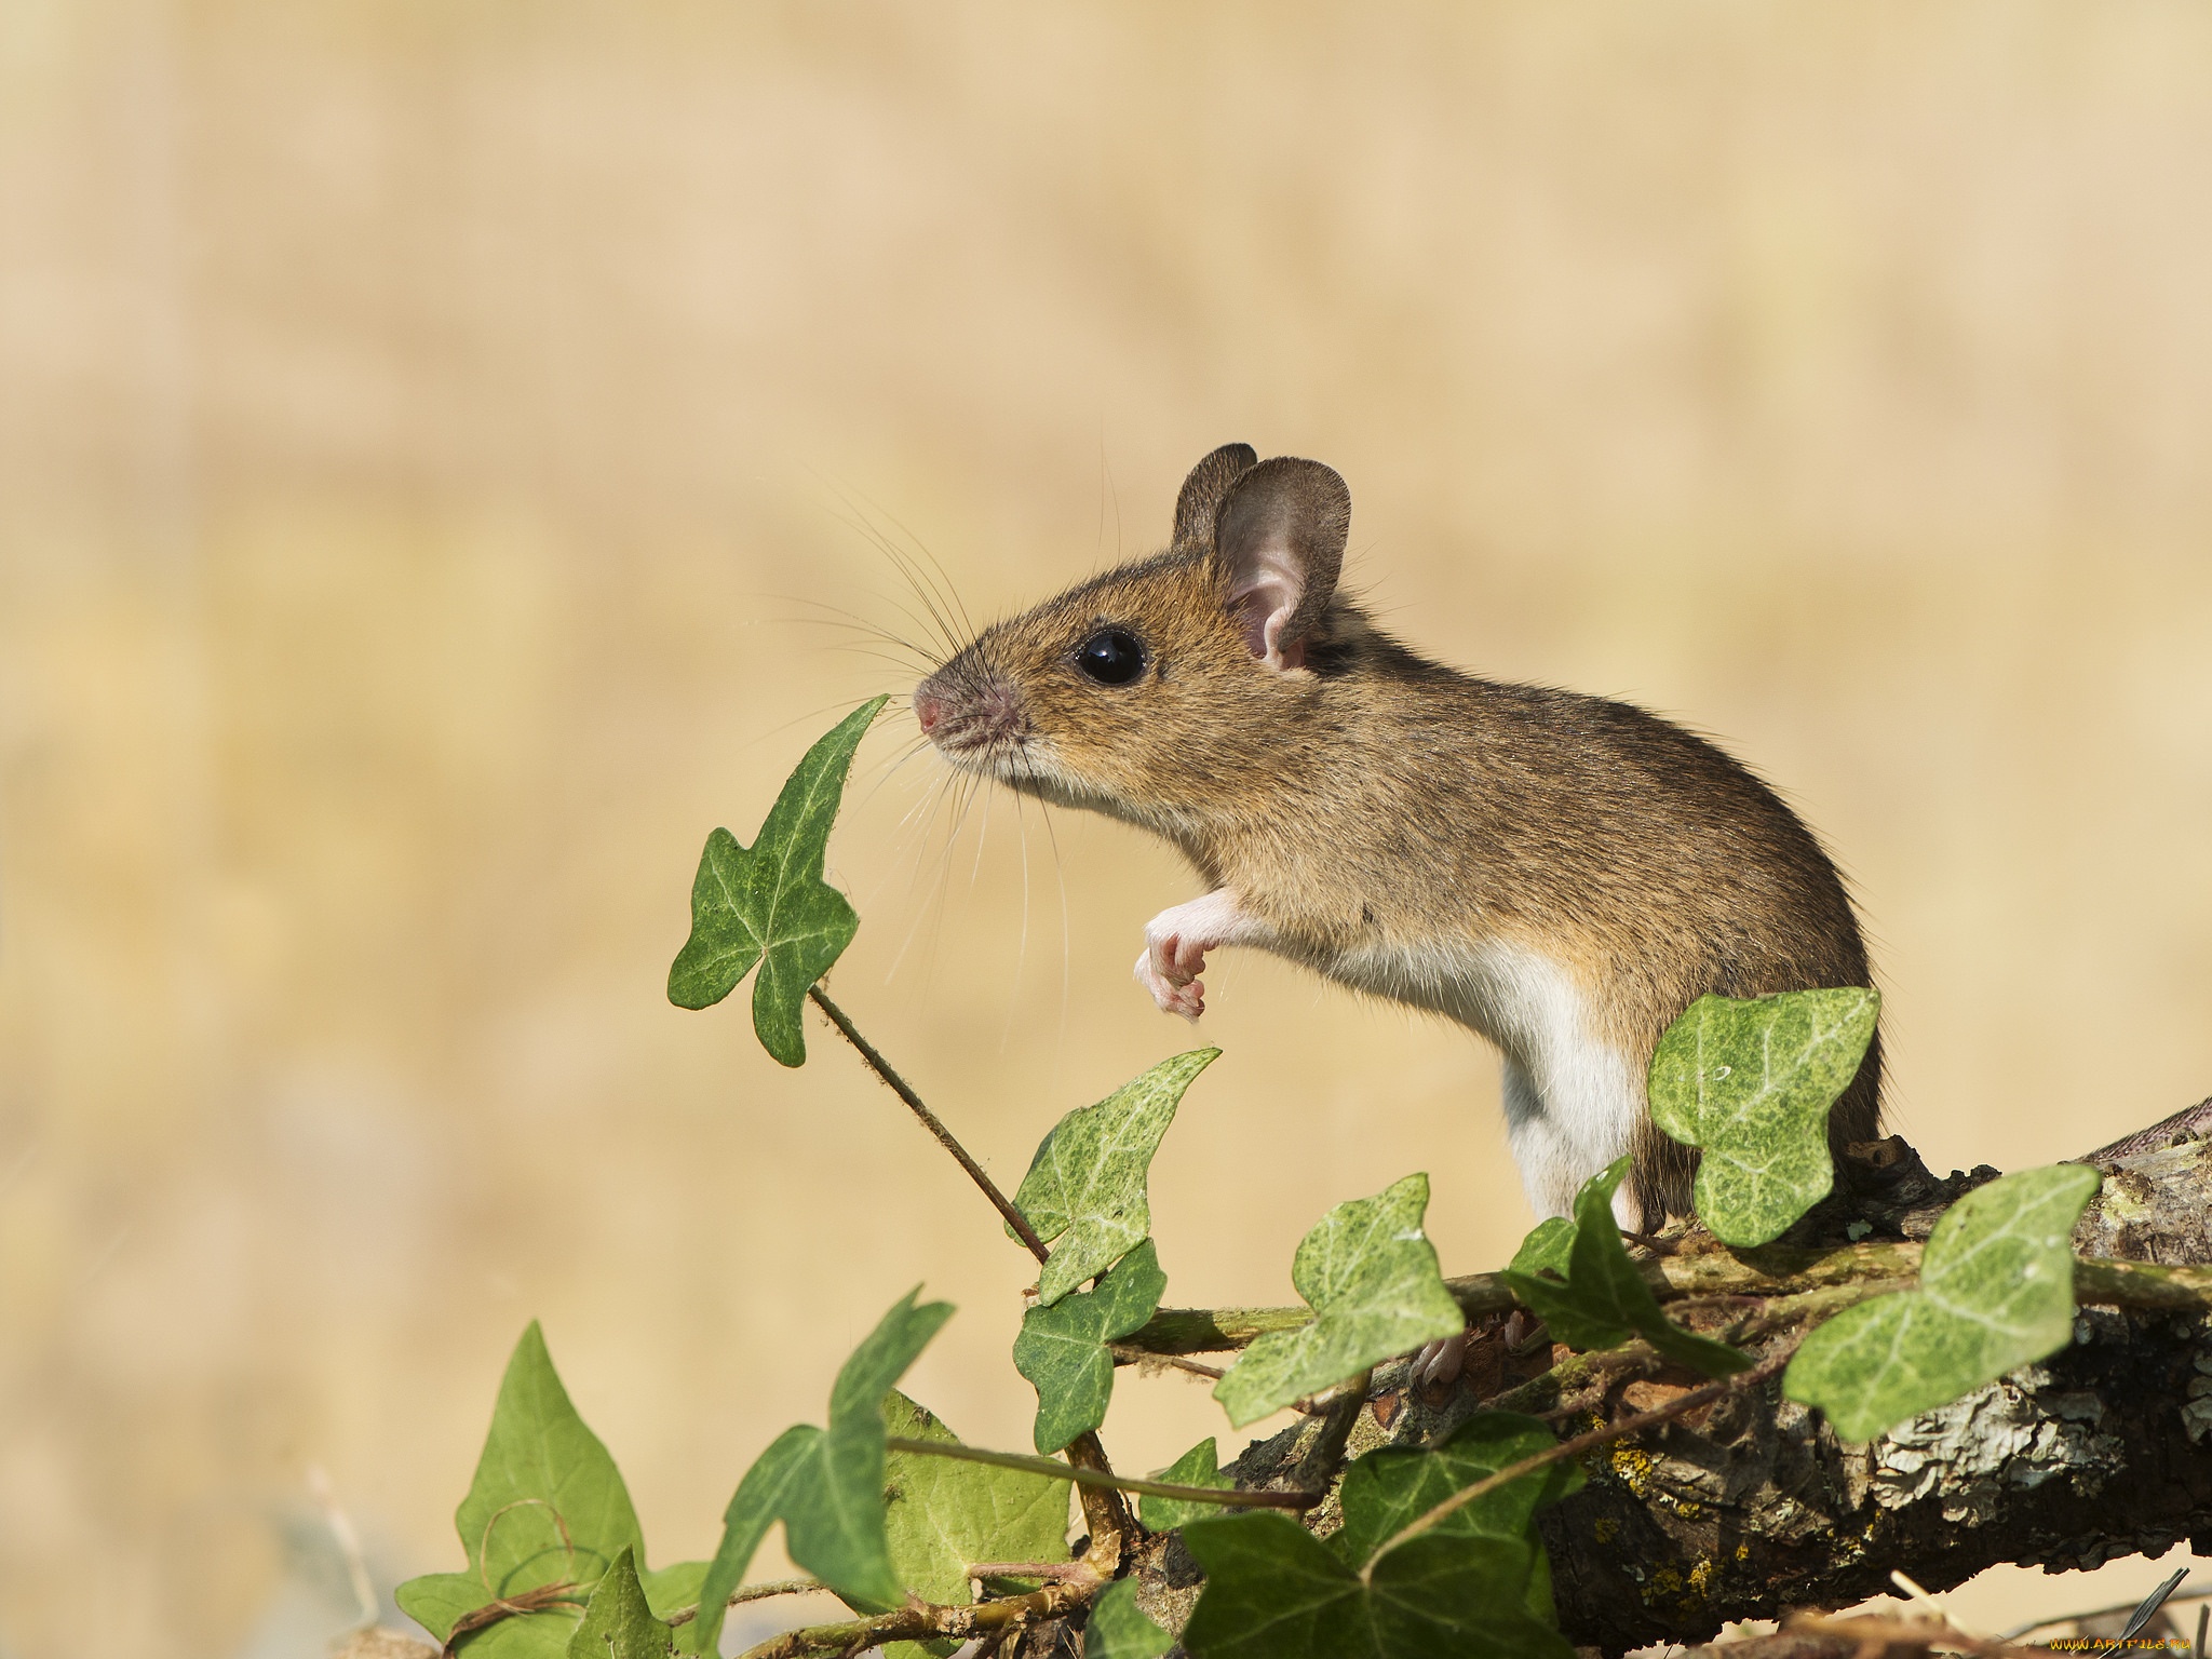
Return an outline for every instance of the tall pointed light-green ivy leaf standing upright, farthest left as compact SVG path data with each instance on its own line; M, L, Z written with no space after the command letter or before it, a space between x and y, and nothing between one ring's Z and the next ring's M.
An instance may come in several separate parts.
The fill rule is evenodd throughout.
M622 1471L568 1402L535 1321L507 1360L484 1453L453 1526L469 1571L409 1579L396 1599L440 1641L465 1626L471 1659L566 1655L577 1615L615 1557L644 1555ZM533 1610L467 1628L471 1615L498 1601Z

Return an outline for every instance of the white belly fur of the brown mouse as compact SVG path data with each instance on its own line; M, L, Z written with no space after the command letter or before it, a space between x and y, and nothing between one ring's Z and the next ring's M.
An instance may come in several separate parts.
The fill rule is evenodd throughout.
M1628 1150L1644 1091L1628 1060L1599 1037L1586 991L1553 958L1482 940L1347 951L1323 971L1458 1020L1504 1051L1506 1139L1537 1214L1568 1214L1575 1190ZM1624 1186L1615 1214L1635 1223L1628 1210Z

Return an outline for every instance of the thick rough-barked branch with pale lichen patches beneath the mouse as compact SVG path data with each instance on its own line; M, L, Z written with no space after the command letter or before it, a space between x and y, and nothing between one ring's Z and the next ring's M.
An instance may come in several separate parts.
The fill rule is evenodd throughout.
M2075 1343L2048 1360L1871 1444L1745 1396L1586 1464L1590 1482L1540 1522L1568 1637L1604 1652L1699 1641L1728 1619L1882 1595L1898 1566L1940 1593L2000 1562L2086 1568L2179 1540L2212 1548L2212 1270L2203 1254L2181 1261L2203 1250L2212 1144L2104 1170L2075 1228ZM1931 1199L1991 1175L1936 1181L1911 1159L1902 1206L1851 1208L1918 1208L1933 1225Z

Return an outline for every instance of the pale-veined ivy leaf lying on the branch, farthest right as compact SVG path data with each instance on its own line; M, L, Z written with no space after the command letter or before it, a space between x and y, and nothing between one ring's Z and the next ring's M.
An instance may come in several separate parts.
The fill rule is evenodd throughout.
M1920 1256L1920 1290L1847 1307L1783 1374L1783 1394L1827 1411L1845 1440L2057 1354L2073 1340L2073 1225L2097 1170L2057 1164L1975 1188Z

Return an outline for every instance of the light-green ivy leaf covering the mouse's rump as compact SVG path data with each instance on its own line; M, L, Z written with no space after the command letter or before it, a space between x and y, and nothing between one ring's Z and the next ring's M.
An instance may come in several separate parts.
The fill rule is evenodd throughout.
M1878 991L1703 995L1652 1055L1652 1121L1697 1166L1697 1214L1732 1245L1763 1245L1827 1197L1827 1108L1874 1042Z

